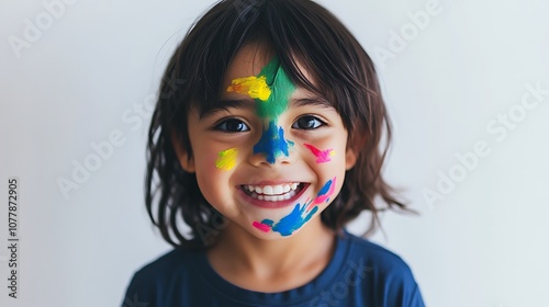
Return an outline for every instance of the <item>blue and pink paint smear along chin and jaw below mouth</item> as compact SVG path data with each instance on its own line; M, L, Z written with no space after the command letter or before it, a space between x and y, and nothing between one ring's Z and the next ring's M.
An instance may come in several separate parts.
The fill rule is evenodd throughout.
M305 204L296 204L293 211L282 217L277 224L271 219L264 219L260 223L254 221L253 226L257 229L269 232L269 230L279 232L282 237L287 237L293 234L293 231L300 229L306 221L313 217L313 215L318 211L317 204L327 202L329 196L334 194L336 186L336 178L328 180L326 184L321 189L316 197L312 201L305 202Z

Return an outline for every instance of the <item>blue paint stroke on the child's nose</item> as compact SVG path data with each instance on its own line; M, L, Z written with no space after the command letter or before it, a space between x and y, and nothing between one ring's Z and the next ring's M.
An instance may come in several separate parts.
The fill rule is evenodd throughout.
M293 141L284 139L282 127L277 127L271 121L269 128L264 132L261 139L254 146L254 154L265 154L267 162L274 164L280 155L289 156L288 145L293 145Z

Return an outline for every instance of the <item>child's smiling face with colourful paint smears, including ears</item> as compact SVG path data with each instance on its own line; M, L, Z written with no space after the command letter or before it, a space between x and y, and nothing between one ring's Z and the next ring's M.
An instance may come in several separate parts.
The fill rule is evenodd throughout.
M222 89L220 109L189 114L192 159L183 152L181 164L233 223L259 238L290 236L318 218L356 161L341 118L257 46L237 54Z

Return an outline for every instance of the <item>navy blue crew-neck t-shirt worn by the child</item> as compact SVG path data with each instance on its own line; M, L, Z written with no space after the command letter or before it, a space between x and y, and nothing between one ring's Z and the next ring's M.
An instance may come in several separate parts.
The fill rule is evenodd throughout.
M408 265L396 254L345 232L328 265L310 283L280 293L240 288L221 277L204 251L177 248L138 270L123 307L371 306L424 307Z

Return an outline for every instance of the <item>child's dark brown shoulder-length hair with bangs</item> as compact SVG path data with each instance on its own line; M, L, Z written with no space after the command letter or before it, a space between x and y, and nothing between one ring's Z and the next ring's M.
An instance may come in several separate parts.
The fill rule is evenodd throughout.
M391 124L372 60L352 34L310 0L226 0L213 5L190 29L160 86L148 132L145 201L163 237L172 246L206 247L210 235L226 225L202 196L194 173L182 170L171 136L192 157L187 132L189 110L213 107L232 58L251 43L274 52L296 86L333 103L348 130L348 146L359 152L357 163L346 172L339 195L322 213L322 221L340 230L362 211L370 211L368 235L379 226L378 200L389 208L406 209L381 175ZM303 76L298 61L313 80ZM386 141L380 148L383 132ZM178 228L180 217L191 227L188 236Z

